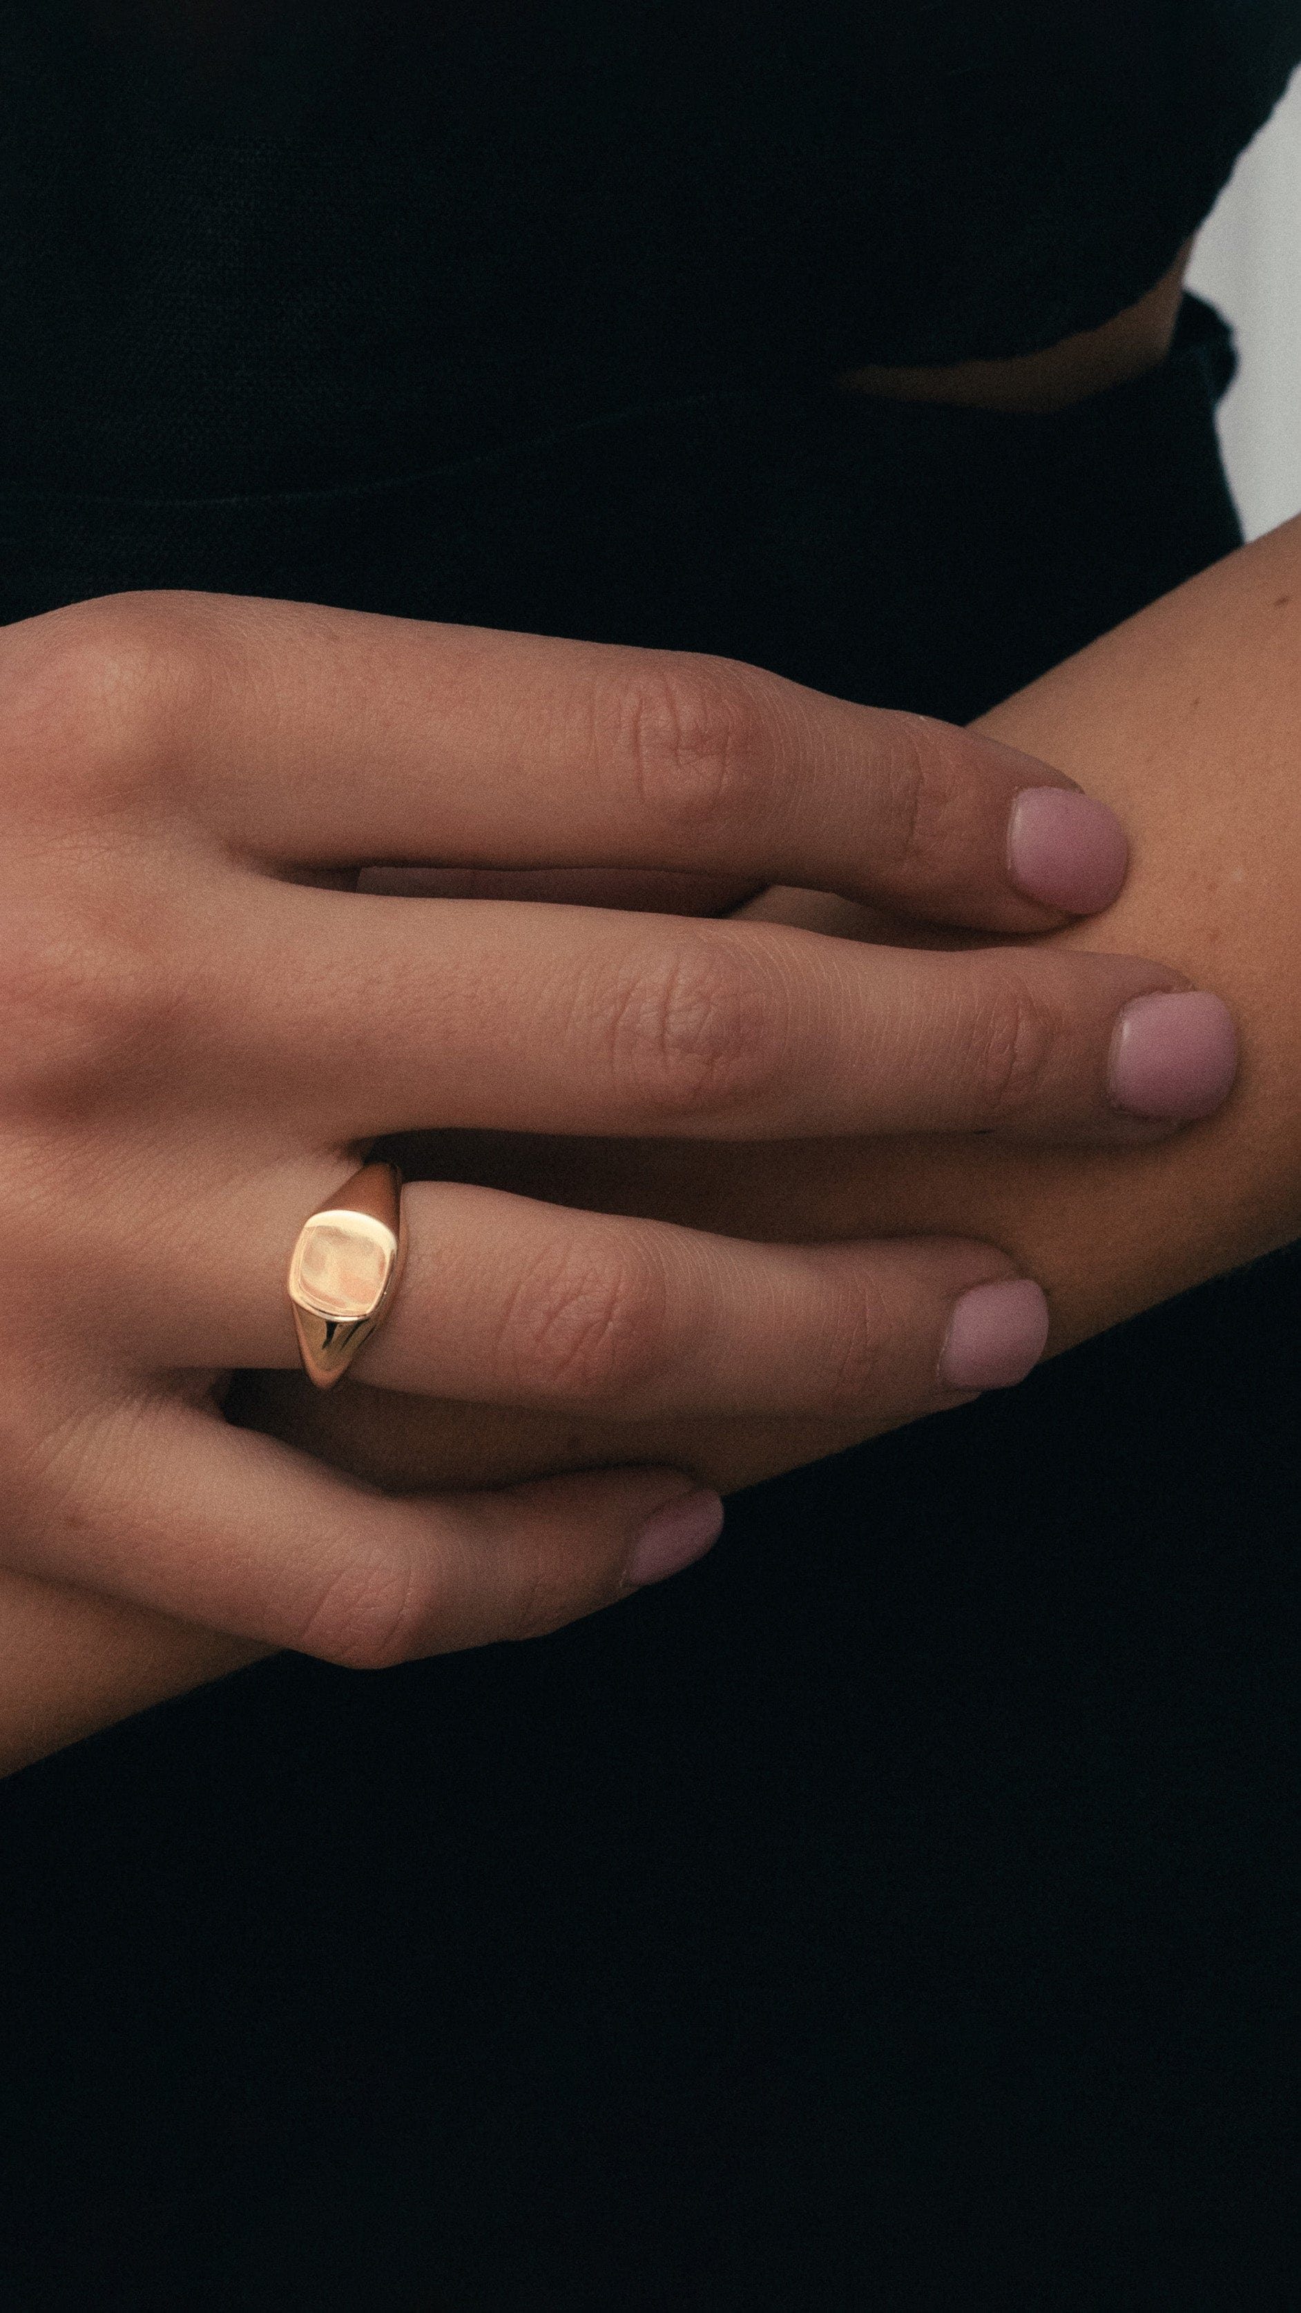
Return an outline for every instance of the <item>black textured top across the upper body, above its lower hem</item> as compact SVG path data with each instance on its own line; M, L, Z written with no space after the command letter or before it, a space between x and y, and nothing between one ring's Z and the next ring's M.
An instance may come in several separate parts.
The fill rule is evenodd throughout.
M351 483L1139 298L1299 0L0 0L0 481ZM164 37L162 25L173 23Z

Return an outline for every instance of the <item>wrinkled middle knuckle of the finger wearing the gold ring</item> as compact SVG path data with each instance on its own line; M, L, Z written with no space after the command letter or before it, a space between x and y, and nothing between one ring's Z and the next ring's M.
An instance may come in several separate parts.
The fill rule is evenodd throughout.
M559 1402L610 1404L633 1395L663 1355L668 1293L661 1265L631 1237L566 1254L518 1295L506 1342L520 1381Z

